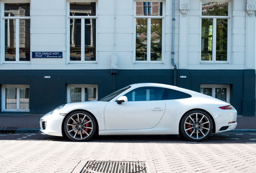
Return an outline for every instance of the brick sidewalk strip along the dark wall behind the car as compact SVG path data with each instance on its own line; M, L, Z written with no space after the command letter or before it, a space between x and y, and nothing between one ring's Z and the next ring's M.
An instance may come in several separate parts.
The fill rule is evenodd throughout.
M43 115L0 115L0 128L17 127L39 129ZM236 129L256 129L256 117L237 117Z

